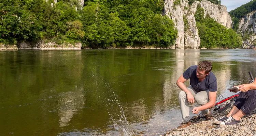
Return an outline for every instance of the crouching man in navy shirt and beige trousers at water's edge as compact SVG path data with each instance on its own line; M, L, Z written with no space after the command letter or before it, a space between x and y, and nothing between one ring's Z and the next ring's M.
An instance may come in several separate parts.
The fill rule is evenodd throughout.
M193 114L198 114L199 111L202 111L202 113L205 113L207 120L213 120L209 108L215 105L217 79L211 70L212 63L210 61L201 61L197 66L189 67L177 80L177 86L182 89L179 94L182 123L177 130L191 125L189 103L194 104L195 101L200 106L193 108ZM190 79L190 86L186 87L184 82L188 79ZM210 101L208 102L208 100Z

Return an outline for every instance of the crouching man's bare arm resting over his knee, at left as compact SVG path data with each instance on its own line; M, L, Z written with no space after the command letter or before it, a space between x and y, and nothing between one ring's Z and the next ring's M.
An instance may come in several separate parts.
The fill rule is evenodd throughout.
M191 94L191 92L187 89L187 87L184 85L184 82L187 81L184 79L183 75L180 76L180 78L177 80L176 84L179 86L184 92L187 94L188 102L193 103L195 102L194 96Z

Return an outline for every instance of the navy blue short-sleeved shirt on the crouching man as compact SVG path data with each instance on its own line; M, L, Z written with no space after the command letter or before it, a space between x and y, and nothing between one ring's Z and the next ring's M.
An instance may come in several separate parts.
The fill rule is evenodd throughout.
M213 72L210 72L202 82L199 82L196 71L197 65L189 67L183 73L183 78L186 80L190 79L190 85L198 92L207 89L211 92L217 91L217 79Z

